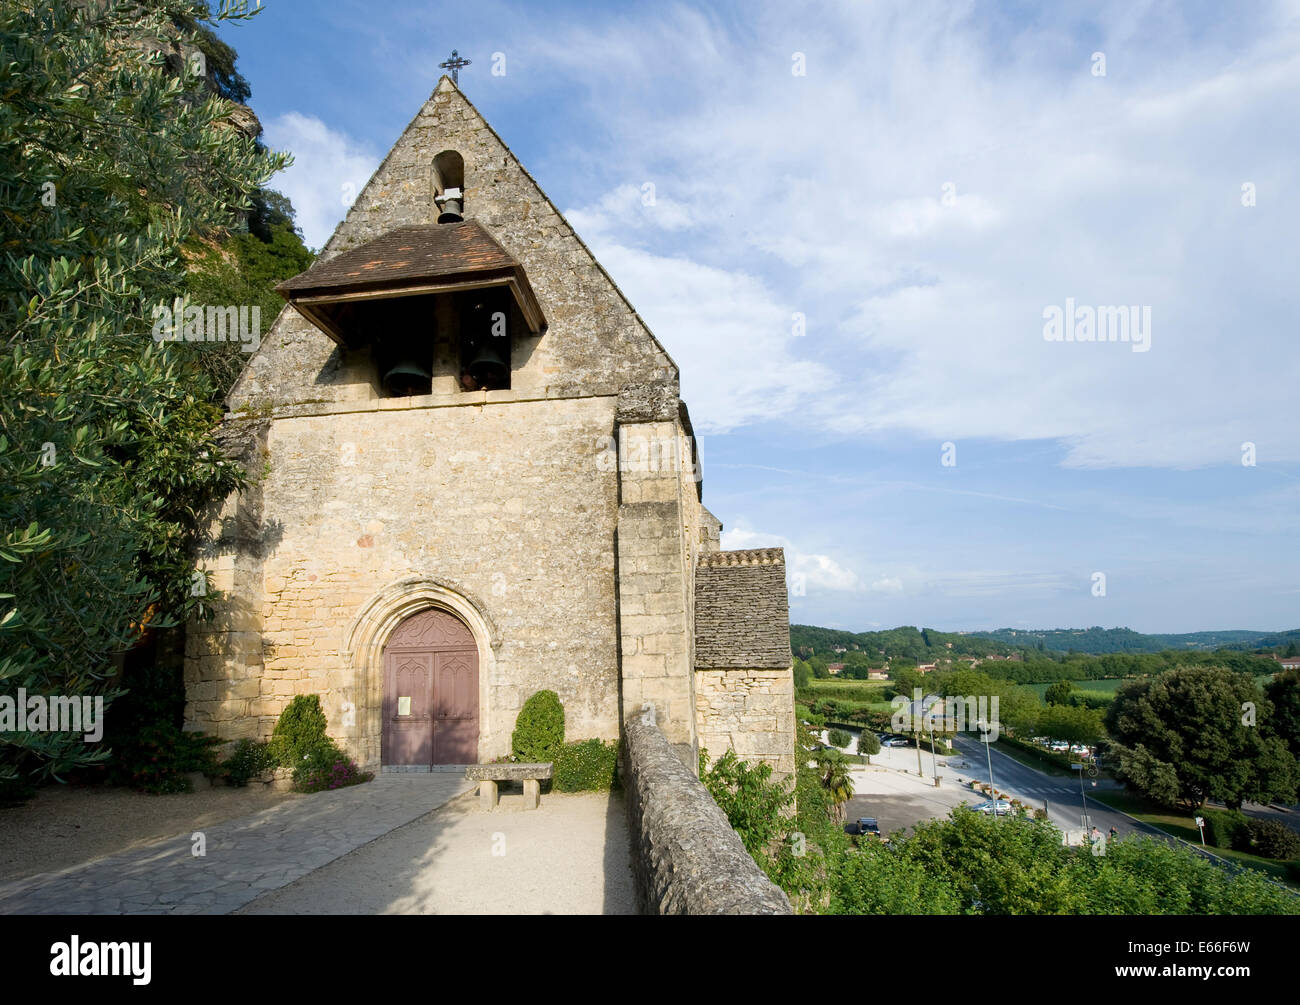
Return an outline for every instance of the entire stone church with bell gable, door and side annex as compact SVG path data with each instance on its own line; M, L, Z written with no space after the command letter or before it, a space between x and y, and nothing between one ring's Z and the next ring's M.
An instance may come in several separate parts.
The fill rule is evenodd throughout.
M720 550L677 364L450 78L278 289L187 728L266 738L318 694L363 767L430 771L508 754L550 689L568 740L649 705L688 763L793 772L784 555Z

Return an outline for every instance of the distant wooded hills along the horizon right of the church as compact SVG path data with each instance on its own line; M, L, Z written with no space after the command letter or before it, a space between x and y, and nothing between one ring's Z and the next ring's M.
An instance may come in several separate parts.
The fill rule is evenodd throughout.
M998 628L996 632L937 632L932 628L902 625L884 632L845 632L837 628L792 624L790 647L794 655L832 658L842 647L846 653L861 651L871 659L883 657L915 659L935 657L987 657L1009 655L1028 650L1057 653L1164 653L1170 649L1184 651L1213 651L1216 649L1252 650L1286 649L1295 645L1300 650L1300 628L1286 632L1190 632L1186 634L1143 634L1130 628L1050 628L1031 629Z

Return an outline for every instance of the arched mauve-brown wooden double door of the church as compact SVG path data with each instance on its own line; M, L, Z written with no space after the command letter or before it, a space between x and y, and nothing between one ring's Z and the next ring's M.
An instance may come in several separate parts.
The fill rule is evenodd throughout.
M384 646L385 766L478 761L478 646L437 607L411 615Z

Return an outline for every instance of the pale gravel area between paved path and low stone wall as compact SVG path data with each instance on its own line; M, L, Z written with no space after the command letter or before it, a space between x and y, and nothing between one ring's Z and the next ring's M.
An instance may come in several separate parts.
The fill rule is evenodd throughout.
M537 810L476 792L259 897L238 914L634 914L621 793L550 793Z

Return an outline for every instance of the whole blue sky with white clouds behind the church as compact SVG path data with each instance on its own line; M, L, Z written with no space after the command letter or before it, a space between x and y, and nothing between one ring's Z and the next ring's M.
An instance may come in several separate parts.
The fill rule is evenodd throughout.
M793 621L1300 625L1300 3L264 7L224 33L315 246L473 60ZM1048 341L1067 298L1149 342Z

